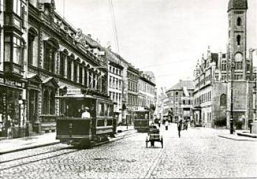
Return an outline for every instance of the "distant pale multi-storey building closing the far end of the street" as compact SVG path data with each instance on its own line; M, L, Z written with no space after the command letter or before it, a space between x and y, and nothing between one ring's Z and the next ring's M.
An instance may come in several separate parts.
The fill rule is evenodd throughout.
M164 98L164 116L169 116L171 122L192 120L193 92L193 81L180 80L169 88L166 91L167 97Z

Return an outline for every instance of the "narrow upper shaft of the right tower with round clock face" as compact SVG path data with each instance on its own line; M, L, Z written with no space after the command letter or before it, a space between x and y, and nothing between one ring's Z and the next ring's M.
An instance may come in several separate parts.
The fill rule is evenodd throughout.
M247 0L228 2L228 76L233 81L247 79L247 8Z

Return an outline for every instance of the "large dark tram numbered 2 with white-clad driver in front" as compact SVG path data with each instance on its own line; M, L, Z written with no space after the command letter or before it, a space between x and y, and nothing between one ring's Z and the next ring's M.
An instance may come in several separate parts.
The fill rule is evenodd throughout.
M72 146L87 147L92 141L107 141L114 134L114 102L95 95L76 94L56 97L64 114L56 118L56 139ZM83 109L90 118L81 118Z

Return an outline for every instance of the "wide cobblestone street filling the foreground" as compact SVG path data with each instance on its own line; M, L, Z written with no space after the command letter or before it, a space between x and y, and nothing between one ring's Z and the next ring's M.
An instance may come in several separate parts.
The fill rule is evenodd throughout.
M257 177L256 141L217 137L228 131L207 127L189 127L178 138L174 124L162 133L164 148L146 148L146 134L136 134L85 150L57 144L3 154L0 178Z

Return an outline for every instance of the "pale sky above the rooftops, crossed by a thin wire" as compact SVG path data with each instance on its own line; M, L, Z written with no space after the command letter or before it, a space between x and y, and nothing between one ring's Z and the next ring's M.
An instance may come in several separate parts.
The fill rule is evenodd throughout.
M112 1L118 47L111 16ZM228 0L55 0L56 10L83 33L118 52L143 71L153 71L157 88L193 79L208 46L226 52ZM247 49L257 48L256 0L248 0ZM63 6L64 5L64 6ZM257 65L257 64L256 64Z

